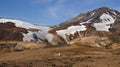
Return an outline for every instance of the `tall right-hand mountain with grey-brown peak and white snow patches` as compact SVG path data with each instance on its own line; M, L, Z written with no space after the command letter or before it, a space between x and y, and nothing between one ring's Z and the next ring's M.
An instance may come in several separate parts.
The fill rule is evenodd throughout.
M78 16L59 24L49 31L67 42L96 39L115 39L120 37L120 12L108 7L80 13ZM92 37L95 36L95 37ZM89 38L88 38L89 37ZM116 41L115 41L116 42ZM119 40L117 42L120 42Z

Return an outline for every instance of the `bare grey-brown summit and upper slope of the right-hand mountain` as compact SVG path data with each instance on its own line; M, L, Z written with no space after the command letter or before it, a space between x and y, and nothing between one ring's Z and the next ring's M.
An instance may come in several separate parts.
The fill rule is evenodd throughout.
M113 19L116 19L115 21L120 21L120 12L114 9L111 9L109 7L100 7L98 9L94 9L92 11L88 11L86 13L80 13L78 16L63 22L60 24L60 26L68 27L71 25L79 25L82 22L92 22L92 23L98 23L100 21L100 17L102 15L110 16Z

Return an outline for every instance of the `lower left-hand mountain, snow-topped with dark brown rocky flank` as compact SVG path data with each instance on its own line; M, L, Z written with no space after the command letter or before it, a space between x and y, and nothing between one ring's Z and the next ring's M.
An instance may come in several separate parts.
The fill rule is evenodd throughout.
M15 19L0 18L0 40L2 41L35 40L33 34L37 37L46 36L49 29L50 27L33 25ZM42 36L40 36L40 34L42 34Z

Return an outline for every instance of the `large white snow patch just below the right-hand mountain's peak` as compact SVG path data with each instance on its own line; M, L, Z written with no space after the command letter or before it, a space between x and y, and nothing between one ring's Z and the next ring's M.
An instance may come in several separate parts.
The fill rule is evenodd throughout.
M102 20L100 23L94 23L94 27L97 31L109 31L110 24L114 23L114 19L109 14L103 14L100 16L100 19Z

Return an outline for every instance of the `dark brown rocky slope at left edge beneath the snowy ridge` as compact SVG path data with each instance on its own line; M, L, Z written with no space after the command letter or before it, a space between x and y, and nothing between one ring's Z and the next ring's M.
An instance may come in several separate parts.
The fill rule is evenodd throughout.
M23 34L27 33L24 28L16 27L14 23L0 23L0 40L1 41L22 41Z

